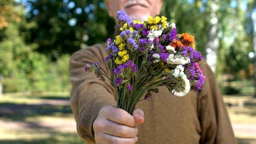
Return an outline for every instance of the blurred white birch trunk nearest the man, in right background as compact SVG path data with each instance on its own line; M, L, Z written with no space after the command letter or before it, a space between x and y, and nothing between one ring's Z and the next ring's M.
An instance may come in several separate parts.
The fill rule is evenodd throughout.
M219 0L213 0L211 6L211 27L208 32L208 42L206 44L206 62L213 72L216 70L217 50L219 48L219 39L217 37L218 25L218 3Z

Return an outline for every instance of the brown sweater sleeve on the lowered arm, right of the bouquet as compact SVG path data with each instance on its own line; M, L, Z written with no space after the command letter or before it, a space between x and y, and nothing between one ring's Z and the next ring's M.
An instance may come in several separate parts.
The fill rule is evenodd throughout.
M200 67L206 76L198 98L198 114L202 129L200 144L236 144L215 74L207 64L200 64Z

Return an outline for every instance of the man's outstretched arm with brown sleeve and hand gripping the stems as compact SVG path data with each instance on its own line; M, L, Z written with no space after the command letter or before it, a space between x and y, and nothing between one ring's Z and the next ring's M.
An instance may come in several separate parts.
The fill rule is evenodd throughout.
M102 71L111 76L104 58L108 53L102 45L74 53L70 59L72 82L71 106L79 136L87 143L134 144L137 124L144 122L144 113L136 108L132 115L116 108L116 90L106 79L102 82L94 72L85 72L84 64L99 62Z

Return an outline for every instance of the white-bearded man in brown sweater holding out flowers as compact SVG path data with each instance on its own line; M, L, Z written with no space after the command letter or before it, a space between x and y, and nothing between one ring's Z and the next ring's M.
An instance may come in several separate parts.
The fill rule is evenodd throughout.
M133 20L144 21L160 14L162 0L106 0L108 14L124 10ZM202 90L184 97L172 97L165 87L141 101L132 115L116 108L116 90L110 81L102 82L93 73L84 72L84 64L104 61L109 54L104 43L75 52L70 59L72 110L80 137L97 144L235 144L236 139L226 106L207 64L200 67L206 76ZM144 121L145 120L145 121Z

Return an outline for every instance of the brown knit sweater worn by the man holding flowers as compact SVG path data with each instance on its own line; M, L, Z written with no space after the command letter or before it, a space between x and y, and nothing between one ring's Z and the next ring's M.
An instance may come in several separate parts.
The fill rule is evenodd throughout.
M110 75L104 61L109 54L104 44L75 52L70 59L71 106L79 136L94 144L92 124L105 105L116 106L116 92L109 80L102 82L84 64L99 62ZM204 61L204 60L203 60ZM145 122L138 125L137 144L236 144L228 112L207 64L200 64L206 80L202 90L183 97L172 97L165 87L152 94L151 101L138 102Z

